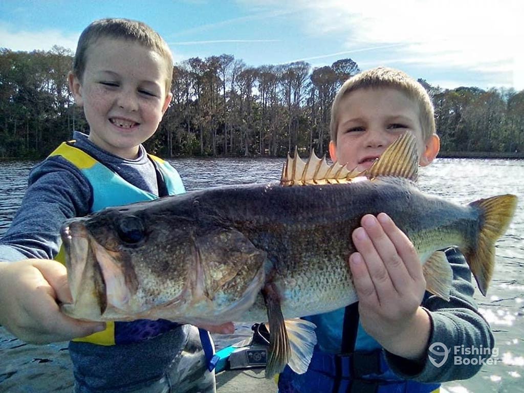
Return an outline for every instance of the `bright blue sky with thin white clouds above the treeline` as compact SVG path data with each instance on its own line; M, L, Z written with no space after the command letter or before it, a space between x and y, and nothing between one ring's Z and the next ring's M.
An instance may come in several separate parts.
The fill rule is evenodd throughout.
M1 0L0 47L75 50L94 19L144 21L175 62L232 54L246 65L351 58L454 89L524 89L522 0Z

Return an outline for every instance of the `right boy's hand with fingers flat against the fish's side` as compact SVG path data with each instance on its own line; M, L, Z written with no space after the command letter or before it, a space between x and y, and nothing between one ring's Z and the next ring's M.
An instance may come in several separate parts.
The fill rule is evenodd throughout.
M420 359L431 324L420 307L426 281L416 249L384 213L365 215L361 224L350 267L362 326L389 352Z

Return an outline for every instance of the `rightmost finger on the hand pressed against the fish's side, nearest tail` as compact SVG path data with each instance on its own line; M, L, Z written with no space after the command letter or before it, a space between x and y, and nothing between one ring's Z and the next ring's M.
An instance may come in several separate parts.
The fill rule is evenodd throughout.
M408 236L399 230L397 225L386 213L380 213L377 220L396 249L396 255L400 257L402 268L408 272L413 280L422 278L422 267L417 250Z

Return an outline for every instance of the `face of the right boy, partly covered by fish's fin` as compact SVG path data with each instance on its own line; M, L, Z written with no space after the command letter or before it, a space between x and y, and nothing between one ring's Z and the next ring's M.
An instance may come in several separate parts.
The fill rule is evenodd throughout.
M421 165L427 147L423 140L419 108L394 88L366 88L342 98L336 144L330 143L333 160L348 169L368 169L400 135L410 131L417 138ZM429 163L429 162L428 162Z

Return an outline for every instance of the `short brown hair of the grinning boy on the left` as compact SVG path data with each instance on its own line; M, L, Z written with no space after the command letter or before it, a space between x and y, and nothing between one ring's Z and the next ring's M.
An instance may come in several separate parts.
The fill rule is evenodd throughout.
M83 78L89 47L101 38L138 42L160 54L166 61L166 94L171 90L173 58L166 41L145 23L123 18L98 19L82 31L73 60L73 74L79 80Z

